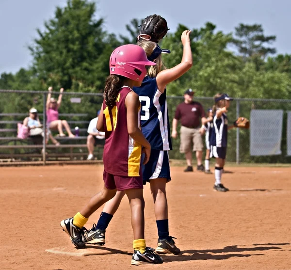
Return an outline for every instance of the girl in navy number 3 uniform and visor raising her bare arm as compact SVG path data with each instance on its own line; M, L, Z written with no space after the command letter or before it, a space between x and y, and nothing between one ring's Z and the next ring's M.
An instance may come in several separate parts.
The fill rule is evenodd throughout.
M162 70L162 50L157 43L140 40L138 42L147 55L147 59L155 62L155 68L147 70L147 76L140 87L133 91L139 95L141 101L142 132L151 145L151 154L147 165L142 165L143 180L150 183L154 200L154 210L158 227L158 245L156 252L160 254L179 254L173 237L169 236L168 204L166 197L166 183L171 180L168 150L172 150L171 132L169 125L168 108L166 102L166 85L181 77L192 66L192 51L190 47L190 32L184 31L181 35L183 57L181 63L170 69ZM105 230L116 212L124 192L117 192L115 197L106 203L103 212L93 225L90 243L104 244Z

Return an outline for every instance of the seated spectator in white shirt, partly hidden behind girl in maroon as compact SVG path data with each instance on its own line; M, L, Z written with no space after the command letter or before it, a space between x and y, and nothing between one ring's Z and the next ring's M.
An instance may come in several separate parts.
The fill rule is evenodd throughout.
M94 146L97 145L98 140L104 140L105 139L105 132L100 132L97 130L96 126L97 126L97 120L98 120L98 116L99 116L100 111L97 111L97 117L93 118L90 121L89 127L87 132L89 133L88 137L87 137L87 148L88 148L88 158L87 160L93 160L94 159Z

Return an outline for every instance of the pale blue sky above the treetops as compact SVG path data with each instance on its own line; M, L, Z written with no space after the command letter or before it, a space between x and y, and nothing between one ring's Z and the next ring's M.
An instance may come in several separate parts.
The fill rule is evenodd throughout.
M291 1L288 0L99 0L97 17L105 18L105 29L126 34L125 25L136 18L159 14L166 18L171 31L178 23L190 29L211 21L218 30L233 32L239 23L263 25L265 34L276 35L278 53L291 53ZM154 6L150 3L154 2ZM177 5L178 2L178 5ZM56 6L66 0L0 0L0 73L28 67L32 57L27 48L52 18ZM130 12L129 12L130 10Z

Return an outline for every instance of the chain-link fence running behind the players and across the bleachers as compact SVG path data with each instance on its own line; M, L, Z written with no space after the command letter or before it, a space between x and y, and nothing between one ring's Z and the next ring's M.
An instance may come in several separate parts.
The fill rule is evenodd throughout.
M14 90L0 90L0 159L1 155L8 154L13 156L16 154L27 154L21 160L29 161L33 157L33 153L40 153L42 148L45 149L45 154L51 152L49 147L52 144L49 141L48 145L41 145L38 148L23 148L23 145L29 144L27 142L16 140L17 123L22 123L24 118L29 115L30 108L34 107L39 111L40 121L45 123L46 115L45 105L48 92L41 91L14 91ZM53 92L53 97L58 98L59 93ZM101 107L103 97L98 93L63 93L62 104L59 109L60 119L67 120L71 129L74 131L75 127L79 127L79 139L62 139L59 140L61 145L76 143L83 145L86 143L87 128L91 119L96 117L97 111ZM204 110L213 106L212 97L194 97L195 101L200 102ZM183 102L182 96L168 96L168 112L170 117L170 126L172 126L173 117L179 103ZM235 99L231 102L228 110L228 122L231 124L238 116L244 116L250 119L250 112L253 109L257 110L283 110L283 131L281 143L281 155L276 156L251 156L250 155L250 131L246 129L230 129L228 131L228 145L227 145L227 161L233 162L256 162L256 163L291 163L291 157L287 157L287 111L291 111L291 100L280 99ZM271 123L272 121L270 121ZM53 131L55 136L58 132ZM179 138L172 140L173 151L170 151L171 159L184 159L184 155L179 153ZM18 145L14 149L5 148L3 146ZM57 153L63 153L71 158L79 155L81 159L85 159L87 150L83 148L67 149L64 146L53 150L55 156ZM81 155L81 153L84 153ZM22 155L23 156L23 155ZM52 155L53 156L53 155ZM49 155L48 155L49 157ZM48 158L43 155L42 161ZM102 158L102 149L98 152L98 159ZM20 160L20 159L19 159ZM49 159L47 159L49 160ZM44 163L45 163L44 161Z

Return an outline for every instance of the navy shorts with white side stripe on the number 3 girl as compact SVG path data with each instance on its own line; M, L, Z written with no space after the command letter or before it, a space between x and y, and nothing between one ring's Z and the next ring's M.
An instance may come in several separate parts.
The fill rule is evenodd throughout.
M167 182L171 181L168 151L151 149L148 162L142 165L142 172L144 185L157 178L166 178Z

